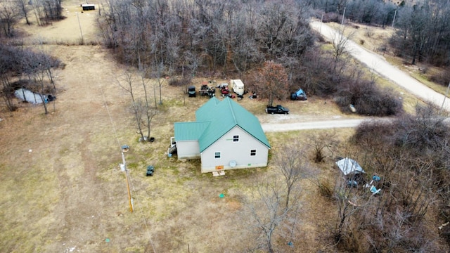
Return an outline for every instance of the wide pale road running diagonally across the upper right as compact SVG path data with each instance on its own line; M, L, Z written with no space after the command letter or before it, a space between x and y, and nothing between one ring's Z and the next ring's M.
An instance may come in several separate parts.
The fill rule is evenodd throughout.
M310 25L314 30L320 32L330 41L338 41L340 40L340 36L342 36L333 28L319 21L313 21ZM433 91L428 88L428 86L418 82L418 80L414 79L409 74L399 70L390 63L387 63L383 56L367 51L365 48L359 46L351 40L347 41L345 48L356 60L364 63L377 74L380 74L380 76L390 79L395 84L403 87L419 98L423 98L424 100L434 103L439 108L442 107L445 110L450 111L449 99L444 99L444 95Z

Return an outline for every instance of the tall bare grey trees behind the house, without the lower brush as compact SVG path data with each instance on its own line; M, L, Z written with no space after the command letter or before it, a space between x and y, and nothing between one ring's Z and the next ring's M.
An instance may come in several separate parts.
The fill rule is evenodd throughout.
M100 28L132 65L242 74L264 59L295 61L313 43L303 1L108 1Z

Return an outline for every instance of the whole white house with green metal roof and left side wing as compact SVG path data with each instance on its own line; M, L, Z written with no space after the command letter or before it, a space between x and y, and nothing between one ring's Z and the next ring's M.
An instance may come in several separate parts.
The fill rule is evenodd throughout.
M231 98L210 98L195 122L176 122L179 160L200 158L202 172L266 167L269 141L255 115Z

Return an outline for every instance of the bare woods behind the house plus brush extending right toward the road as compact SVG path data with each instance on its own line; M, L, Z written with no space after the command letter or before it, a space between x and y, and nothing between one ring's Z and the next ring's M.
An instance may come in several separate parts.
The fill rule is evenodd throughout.
M310 95L339 96L345 111L349 104L358 105L358 113L364 115L401 111L398 96L361 78L361 70L349 66L344 44L335 47L338 53L323 52L314 44L317 37L309 29L313 2L110 0L107 4L98 25L105 46L123 63L158 70L159 76L181 74L186 82L200 72L233 74L260 98L269 98L269 104L302 88ZM264 73L270 72L266 65L279 65L278 81L285 82L265 82L269 79L263 78ZM364 91L370 93L356 93L366 84L369 88Z

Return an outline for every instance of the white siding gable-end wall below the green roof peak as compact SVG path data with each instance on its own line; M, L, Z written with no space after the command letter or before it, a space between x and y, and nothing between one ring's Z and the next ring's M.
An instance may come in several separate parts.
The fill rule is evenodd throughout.
M233 136L239 136L239 141L233 142ZM250 150L256 150L256 155L250 156ZM216 152L221 153L220 158L214 158ZM202 172L215 171L217 166L224 169L266 167L268 153L266 145L235 126L201 153ZM236 167L230 167L230 161L236 161Z

